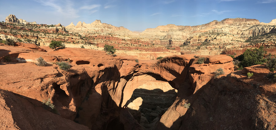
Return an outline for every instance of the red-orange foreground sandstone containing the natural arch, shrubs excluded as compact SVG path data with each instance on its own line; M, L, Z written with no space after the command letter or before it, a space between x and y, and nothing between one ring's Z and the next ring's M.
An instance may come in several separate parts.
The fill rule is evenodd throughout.
M35 64L40 56L47 66ZM275 128L276 85L265 78L265 65L234 71L230 56L204 58L203 64L194 55L137 63L92 49L0 44L0 129ZM218 68L225 74L214 78ZM54 110L44 109L48 99Z

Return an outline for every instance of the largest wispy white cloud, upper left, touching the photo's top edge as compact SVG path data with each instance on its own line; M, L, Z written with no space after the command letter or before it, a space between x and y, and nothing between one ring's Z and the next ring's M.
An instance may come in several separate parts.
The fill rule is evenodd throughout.
M44 6L52 7L53 9L55 9L56 12L60 13L63 16L70 16L74 18L79 17L79 15L77 14L79 11L73 8L74 4L70 0L66 0L66 1L63 1L63 3L59 3L62 6L58 5L58 2L60 1L56 1L56 0L48 0L48 1L35 0L35 1L41 3Z

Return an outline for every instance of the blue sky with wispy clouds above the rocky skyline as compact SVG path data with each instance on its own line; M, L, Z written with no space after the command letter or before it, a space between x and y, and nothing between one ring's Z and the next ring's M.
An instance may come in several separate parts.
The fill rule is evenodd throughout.
M63 26L81 21L143 31L160 25L195 26L225 18L276 19L276 0L5 0L0 21L9 14L28 22Z

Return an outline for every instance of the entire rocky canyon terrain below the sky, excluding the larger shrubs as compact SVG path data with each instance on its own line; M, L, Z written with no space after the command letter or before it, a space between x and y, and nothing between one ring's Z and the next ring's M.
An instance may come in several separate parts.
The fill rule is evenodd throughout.
M0 23L0 38L14 41L0 43L0 129L276 128L269 69L234 70L227 56L259 46L276 54L276 20L224 19L143 32L100 20L66 27L23 22L9 15ZM52 40L66 47L54 51ZM103 51L105 44L115 55ZM36 65L39 57L46 66ZM216 75L220 68L224 74ZM254 75L247 78L248 72Z

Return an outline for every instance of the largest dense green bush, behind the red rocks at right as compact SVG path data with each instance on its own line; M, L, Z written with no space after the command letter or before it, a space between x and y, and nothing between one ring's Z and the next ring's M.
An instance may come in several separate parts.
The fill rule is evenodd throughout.
M237 56L235 59L240 61L238 65L239 67L249 67L265 63L265 55L266 51L264 51L263 46L261 46L259 49L247 49L243 54Z

